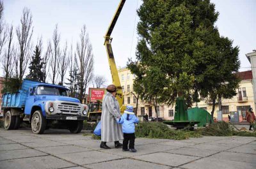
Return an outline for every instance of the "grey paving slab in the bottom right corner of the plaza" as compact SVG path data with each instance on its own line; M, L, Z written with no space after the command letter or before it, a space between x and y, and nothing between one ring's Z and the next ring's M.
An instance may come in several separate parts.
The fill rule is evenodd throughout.
M222 159L212 159L203 158L188 163L186 165L180 166L180 168L188 168L188 169L216 169L216 168L225 168L225 169L255 169L255 163L244 163L241 161L230 161L230 160L222 160Z

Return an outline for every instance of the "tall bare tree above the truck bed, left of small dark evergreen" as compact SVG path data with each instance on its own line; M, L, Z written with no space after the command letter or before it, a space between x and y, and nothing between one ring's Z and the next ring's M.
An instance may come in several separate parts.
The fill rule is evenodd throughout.
M19 54L17 55L16 62L18 62L19 72L18 77L21 82L22 77L26 71L29 60L31 58L32 44L31 37L33 34L32 15L28 8L24 8L22 17L20 18L21 26L16 29L16 34L19 41Z

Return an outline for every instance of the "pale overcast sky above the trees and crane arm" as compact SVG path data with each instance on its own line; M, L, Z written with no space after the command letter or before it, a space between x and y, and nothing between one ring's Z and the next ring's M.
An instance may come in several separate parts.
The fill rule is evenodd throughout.
M85 24L93 46L94 73L102 75L111 83L108 58L104 47L104 34L115 13L119 0L4 0L4 19L17 27L22 9L26 6L33 15L33 39L42 36L44 43L52 37L56 24L61 33L61 46L67 40L75 45L81 27ZM216 26L222 36L234 40L239 46L240 71L250 69L245 54L256 49L256 1L255 0L212 0L220 12ZM116 66L124 67L129 57L134 58L137 43L134 20L139 0L127 0L111 34ZM134 36L133 36L134 33ZM133 39L132 39L133 37ZM16 39L16 36L15 36ZM45 49L46 47L44 47ZM2 71L2 70L1 70ZM3 73L1 73L3 74Z

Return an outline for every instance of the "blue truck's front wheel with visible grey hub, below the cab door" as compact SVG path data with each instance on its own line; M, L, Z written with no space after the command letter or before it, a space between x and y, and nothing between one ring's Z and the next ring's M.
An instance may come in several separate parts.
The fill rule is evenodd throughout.
M41 110L36 110L32 116L31 129L35 134L44 133L46 127L46 119L42 114Z

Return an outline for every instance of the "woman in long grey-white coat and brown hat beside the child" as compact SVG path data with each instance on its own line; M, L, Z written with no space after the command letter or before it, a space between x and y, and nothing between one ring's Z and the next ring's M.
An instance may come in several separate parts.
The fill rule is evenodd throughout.
M106 142L115 142L115 147L122 147L119 140L124 139L122 132L122 124L118 124L121 117L120 107L115 98L116 86L108 85L107 93L102 101L102 114L101 114L101 143L100 148L110 149Z

